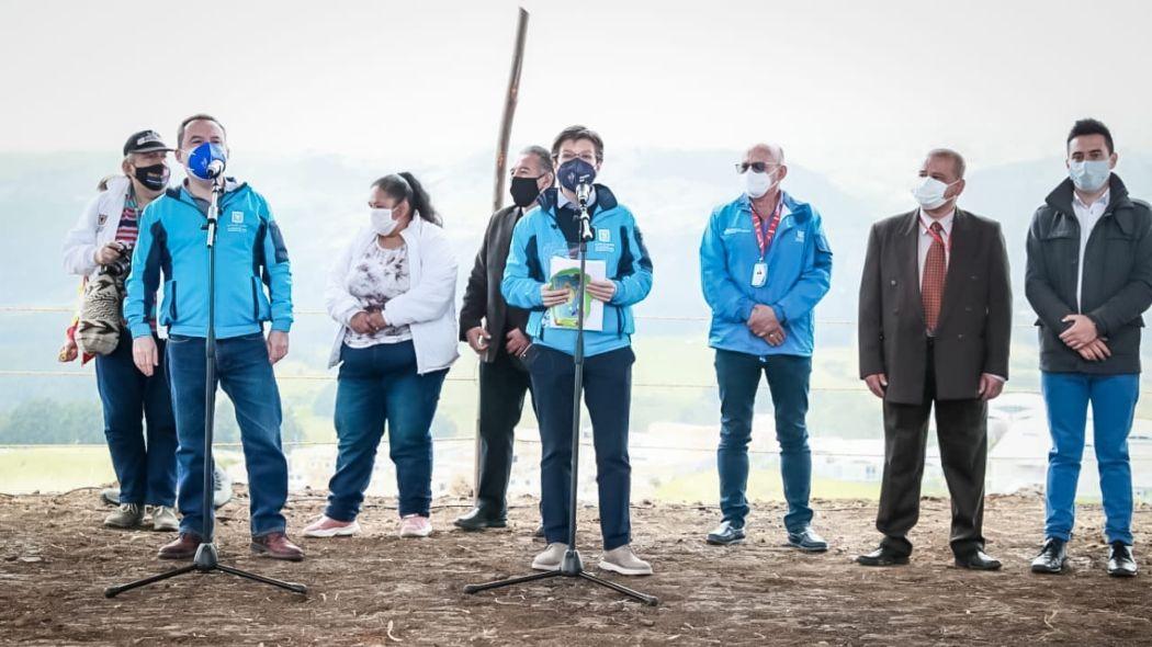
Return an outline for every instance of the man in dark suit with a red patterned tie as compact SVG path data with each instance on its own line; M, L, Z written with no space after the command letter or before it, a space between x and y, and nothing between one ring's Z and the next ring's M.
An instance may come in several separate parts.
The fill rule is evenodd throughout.
M964 159L937 149L912 191L920 207L872 226L859 298L861 378L884 399L885 464L866 566L907 564L919 517L929 414L952 494L956 565L995 570L984 553L987 402L1008 379L1011 287L1000 224L956 208Z

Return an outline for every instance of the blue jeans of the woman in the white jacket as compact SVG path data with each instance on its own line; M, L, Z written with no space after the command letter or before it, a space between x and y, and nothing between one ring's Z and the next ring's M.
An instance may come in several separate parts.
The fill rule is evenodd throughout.
M372 480L376 450L388 427L388 456L396 465L400 516L427 517L432 505L432 418L447 370L416 373L412 342L343 347L336 382L336 473L328 481L325 515L351 522Z

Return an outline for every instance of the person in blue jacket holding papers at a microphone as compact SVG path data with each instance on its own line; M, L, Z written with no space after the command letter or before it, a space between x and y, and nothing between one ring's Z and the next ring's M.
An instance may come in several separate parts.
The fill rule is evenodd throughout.
M509 305L531 311L528 334L537 349L526 360L543 444L540 498L548 546L532 561L532 568L541 571L559 570L563 560L571 487L576 330L575 325L566 326L555 318L553 306L566 304L569 290L555 289L559 280L554 275L563 261L576 258L577 178L594 177L599 172L604 140L594 131L574 125L556 137L552 157L559 167L560 189L540 193L539 208L516 223L501 282ZM594 238L588 244L588 260L604 265L605 280L590 281L586 288L590 297L600 302L602 320L598 327L585 321L584 403L592 418L600 494L604 555L599 566L627 576L651 574L652 566L636 557L629 547L628 414L631 366L636 359L631 350L635 330L631 306L652 289L652 261L632 213L616 201L607 187L593 187L589 210Z

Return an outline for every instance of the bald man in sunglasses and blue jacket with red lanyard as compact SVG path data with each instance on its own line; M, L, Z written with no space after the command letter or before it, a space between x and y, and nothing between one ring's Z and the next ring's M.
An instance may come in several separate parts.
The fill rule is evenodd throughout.
M775 406L788 542L819 553L828 545L811 527L812 456L808 383L812 309L828 291L832 250L820 214L780 189L788 175L780 146L757 144L736 165L744 193L712 212L700 243L700 283L712 309L708 345L720 386L720 510L707 542L743 541L749 505L748 443L760 374Z

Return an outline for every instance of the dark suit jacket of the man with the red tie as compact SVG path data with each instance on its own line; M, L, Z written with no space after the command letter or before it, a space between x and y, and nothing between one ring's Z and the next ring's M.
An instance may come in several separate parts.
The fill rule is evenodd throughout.
M920 404L927 333L920 297L919 210L869 236L859 298L861 378L885 373L885 402ZM956 210L935 329L937 399L979 397L980 374L1008 378L1011 286L1000 223Z

